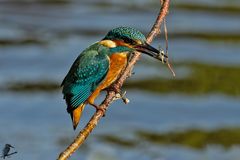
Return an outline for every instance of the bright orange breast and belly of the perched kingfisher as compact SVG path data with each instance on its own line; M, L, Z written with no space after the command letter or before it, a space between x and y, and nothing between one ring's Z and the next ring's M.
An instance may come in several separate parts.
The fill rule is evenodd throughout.
M118 75L126 67L127 53L115 53L110 56L110 67L103 82L96 88L92 95L88 98L88 103L93 104L99 93L109 87L114 81L117 80Z

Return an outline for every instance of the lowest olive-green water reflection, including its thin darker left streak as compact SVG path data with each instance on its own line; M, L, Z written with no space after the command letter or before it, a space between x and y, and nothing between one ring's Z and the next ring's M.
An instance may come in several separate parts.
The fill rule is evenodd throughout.
M97 136L102 142L124 148L135 148L143 144L180 145L193 149L204 149L208 145L219 145L226 149L240 144L240 128L222 128L216 130L190 129L158 133L147 130L135 132L134 139L117 135Z

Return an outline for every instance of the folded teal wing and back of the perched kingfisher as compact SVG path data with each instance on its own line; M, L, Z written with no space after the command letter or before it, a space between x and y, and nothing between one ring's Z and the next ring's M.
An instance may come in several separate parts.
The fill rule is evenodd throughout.
M84 103L106 77L109 69L107 48L94 44L75 60L62 82L68 112Z

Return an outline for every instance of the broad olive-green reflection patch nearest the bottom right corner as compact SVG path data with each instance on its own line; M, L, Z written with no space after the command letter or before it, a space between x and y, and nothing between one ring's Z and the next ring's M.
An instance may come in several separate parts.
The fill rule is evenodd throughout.
M191 129L168 133L137 131L139 139L154 144L177 144L194 149L203 149L207 145L220 145L226 149L240 144L240 128L223 128L212 131Z

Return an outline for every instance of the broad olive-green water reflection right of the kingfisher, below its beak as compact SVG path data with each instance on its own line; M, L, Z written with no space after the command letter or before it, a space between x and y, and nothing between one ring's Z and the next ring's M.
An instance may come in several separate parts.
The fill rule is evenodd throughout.
M200 63L189 63L180 66L190 68L192 70L190 75L183 79L153 77L136 80L126 83L125 87L154 93L222 93L232 96L240 95L239 66L217 66Z

